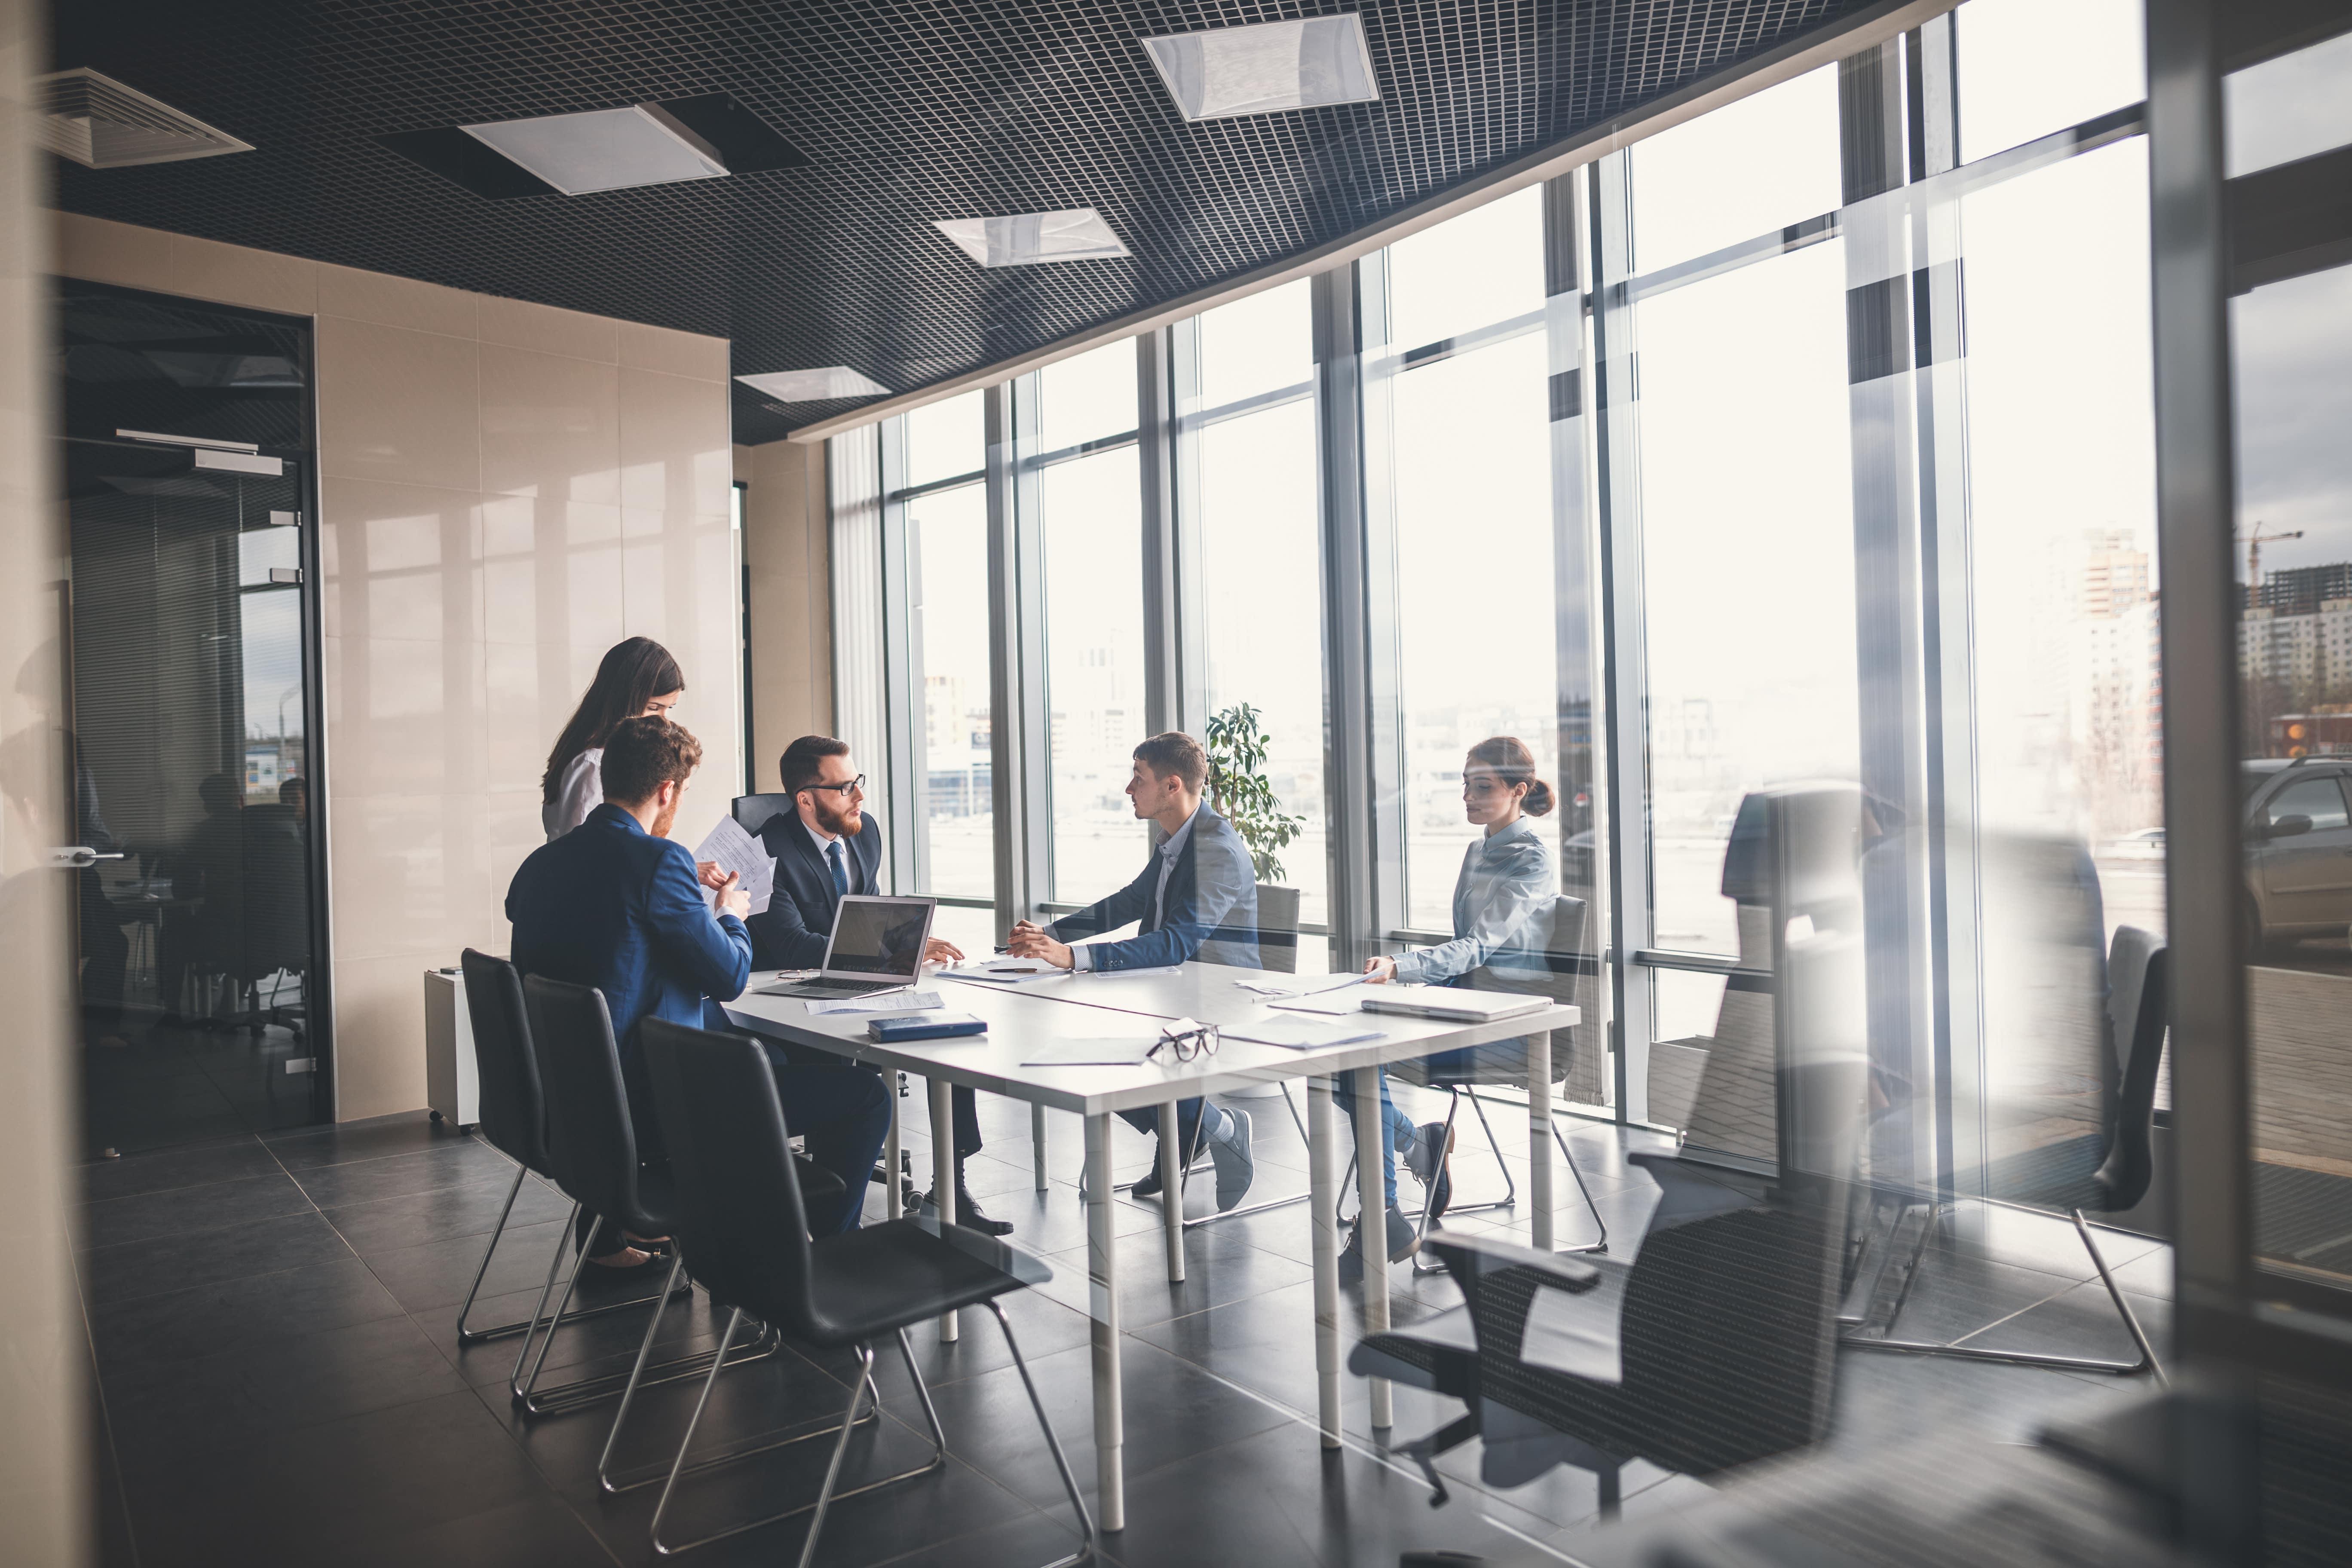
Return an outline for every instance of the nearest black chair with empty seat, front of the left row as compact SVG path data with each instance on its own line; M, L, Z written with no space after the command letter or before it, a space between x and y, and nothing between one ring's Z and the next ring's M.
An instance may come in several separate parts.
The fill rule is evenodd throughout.
M1080 1549L1051 1568L1068 1568L1091 1556L1094 1516L1077 1493L1061 1439L1054 1436L1054 1422L1047 1420L1044 1403L1037 1399L1028 1361L1021 1359L1014 1328L997 1305L1000 1295L1051 1279L1051 1269L993 1237L962 1225L941 1225L936 1218L889 1220L809 1241L800 1178L786 1145L783 1105L776 1100L776 1077L757 1041L652 1023L642 1039L647 1072L654 1081L654 1105L677 1173L677 1241L684 1253L694 1255L696 1279L710 1293L713 1305L729 1309L717 1359L710 1363L701 1399L687 1420L687 1434L677 1443L677 1460L661 1488L661 1502L654 1507L654 1549L670 1556L814 1512L809 1535L800 1547L800 1568L809 1568L816 1540L826 1528L826 1509L835 1495L854 1497L946 1465L948 1439L938 1427L931 1392L915 1363L906 1331L910 1324L985 1302L1004 1331L1004 1347L1021 1371L1037 1427L1044 1432L1047 1450L1054 1455L1063 1490L1070 1495L1070 1509L1077 1514ZM677 1490L677 1476L687 1469L687 1450L694 1446L694 1429L710 1401L710 1385L717 1382L727 1347L746 1314L818 1349L856 1347L858 1375L849 1389L849 1410L835 1429L840 1436L826 1467L823 1488L818 1488L816 1502L736 1523L701 1540L663 1542L661 1519ZM898 1354L915 1380L915 1396L922 1401L931 1429L931 1460L896 1476L835 1493L842 1453L849 1448L849 1429L873 1387L873 1342L884 1335L896 1335ZM880 1392L875 1399L880 1401Z

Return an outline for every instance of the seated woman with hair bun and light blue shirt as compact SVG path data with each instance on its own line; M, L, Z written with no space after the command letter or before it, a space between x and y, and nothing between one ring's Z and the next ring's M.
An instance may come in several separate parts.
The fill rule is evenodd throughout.
M1463 870L1454 879L1454 940L1435 947L1411 947L1397 957L1364 964L1367 985L1409 980L1451 985L1496 954L1524 947L1545 931L1538 914L1552 907L1559 877L1552 851L1529 818L1552 811L1552 785L1536 778L1536 755L1517 736L1494 736L1470 748L1463 759L1463 816L1484 835L1463 851ZM1341 1077L1331 1095L1355 1117L1355 1095ZM1439 1140L1446 1147L1437 1147ZM1454 1152L1442 1121L1416 1128L1388 1098L1388 1072L1381 1072L1381 1154L1388 1164L1388 1260L1402 1262L1421 1246L1414 1222L1397 1211L1397 1154L1425 1187L1435 1187L1430 1220L1446 1211L1454 1178L1446 1157ZM1341 1279L1364 1276L1364 1227L1355 1227L1338 1260Z

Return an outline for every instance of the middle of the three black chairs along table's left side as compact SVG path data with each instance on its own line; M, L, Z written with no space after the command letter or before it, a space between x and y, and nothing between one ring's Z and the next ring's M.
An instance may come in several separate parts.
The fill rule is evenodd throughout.
M640 1237L670 1232L670 1175L659 1166L637 1161L637 1128L628 1112L621 1051L612 1037L612 1013L604 1011L604 992L590 985L564 985L562 980L527 976L522 980L522 1001L532 1023L532 1058L546 1093L548 1171L564 1197L579 1208L595 1213L597 1222L576 1248L579 1255L572 1260L562 1302L557 1302L555 1316L546 1319L548 1328L539 1340L529 1378L520 1375L522 1359L517 1356L517 1380L510 1385L510 1392L529 1415L574 1410L619 1396L621 1410L614 1418L616 1439L621 1422L628 1418L628 1406L642 1385L694 1378L708 1361L708 1356L680 1356L652 1368L647 1366L644 1352L652 1349L654 1338L661 1333L670 1293L680 1286L682 1251L670 1251L670 1272L654 1302L654 1316L644 1326L644 1349L640 1349L628 1378L581 1378L555 1389L539 1389L539 1373L548 1361L548 1347L555 1342L555 1326L562 1321L564 1307L572 1305L572 1293L579 1291L581 1269L597 1253L597 1237L607 1229L635 1232ZM833 1180L833 1190L840 1192L840 1180ZM619 1244L619 1237L614 1237L614 1244ZM548 1286L541 1288L541 1305L546 1305L553 1286L555 1267L550 1265ZM524 1352L529 1352L529 1342L524 1342ZM753 1361L771 1354L776 1354L776 1340L774 1335L762 1335L753 1354L743 1359ZM649 1371L661 1375L647 1378ZM609 1453L612 1439L607 1439Z

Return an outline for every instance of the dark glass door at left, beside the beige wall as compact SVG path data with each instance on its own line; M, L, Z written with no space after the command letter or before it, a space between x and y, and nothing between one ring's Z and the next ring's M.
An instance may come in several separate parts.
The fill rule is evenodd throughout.
M303 324L68 284L85 1145L325 1114Z

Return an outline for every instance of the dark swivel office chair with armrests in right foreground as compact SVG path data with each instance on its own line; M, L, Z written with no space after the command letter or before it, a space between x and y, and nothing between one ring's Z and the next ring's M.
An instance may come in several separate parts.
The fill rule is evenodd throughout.
M1602 1514L1630 1460L1705 1476L1820 1441L1860 1086L1858 1058L1783 1074L1818 1133L1806 1168L1771 1185L1675 1152L1630 1154L1661 1187L1632 1262L1430 1232L1463 1305L1362 1340L1348 1368L1470 1406L1399 1450L1423 1467L1432 1507L1446 1500L1435 1458L1470 1436L1491 1486L1552 1465L1595 1472Z

